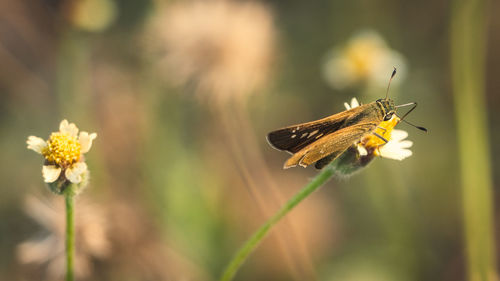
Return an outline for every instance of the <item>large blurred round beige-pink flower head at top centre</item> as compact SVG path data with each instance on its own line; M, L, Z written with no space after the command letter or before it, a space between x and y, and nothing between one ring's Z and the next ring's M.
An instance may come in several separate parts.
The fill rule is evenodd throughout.
M245 97L268 80L275 30L262 4L174 2L155 27L175 84L193 83L198 93L220 101Z

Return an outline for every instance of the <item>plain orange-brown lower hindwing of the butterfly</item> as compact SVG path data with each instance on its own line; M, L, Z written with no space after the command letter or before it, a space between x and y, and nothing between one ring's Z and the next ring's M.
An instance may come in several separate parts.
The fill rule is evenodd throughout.
M285 162L284 168L287 169L297 165L307 167L315 162L319 162L316 165L318 169L323 168L364 135L375 130L376 127L377 123L370 122L349 126L330 133L328 136L318 139L292 155Z

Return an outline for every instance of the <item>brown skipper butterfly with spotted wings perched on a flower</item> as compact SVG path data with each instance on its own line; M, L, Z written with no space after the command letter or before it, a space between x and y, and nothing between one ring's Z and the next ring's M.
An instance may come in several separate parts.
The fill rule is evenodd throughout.
M395 74L396 68L392 72L389 86ZM272 147L293 154L285 162L285 169L297 165L307 167L313 163L316 163L314 166L317 169L321 169L368 134L374 134L387 143L388 140L377 134L375 129L382 121L390 120L396 114L396 108L408 105L413 105L413 108L400 118L401 121L408 123L404 118L416 108L417 103L395 106L394 101L388 99L386 94L385 99L354 107L317 121L272 131L267 135L267 140ZM423 127L415 127L427 131ZM384 130L384 128L381 129Z

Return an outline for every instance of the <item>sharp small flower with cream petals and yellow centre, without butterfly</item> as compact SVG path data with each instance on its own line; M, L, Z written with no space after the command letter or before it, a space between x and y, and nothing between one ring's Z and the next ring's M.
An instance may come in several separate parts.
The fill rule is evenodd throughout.
M74 123L63 120L59 132L50 135L47 141L29 136L26 143L31 149L45 158L42 176L46 183L53 183L61 177L71 183L81 183L88 172L83 154L90 150L96 133L80 132Z

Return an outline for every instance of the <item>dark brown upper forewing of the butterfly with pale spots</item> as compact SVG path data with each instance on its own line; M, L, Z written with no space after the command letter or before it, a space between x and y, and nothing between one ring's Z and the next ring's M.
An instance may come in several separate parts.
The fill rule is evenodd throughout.
M320 120L270 132L267 140L276 149L296 153L318 139L344 127L349 116L359 115L359 112L362 112L366 106L362 105Z

